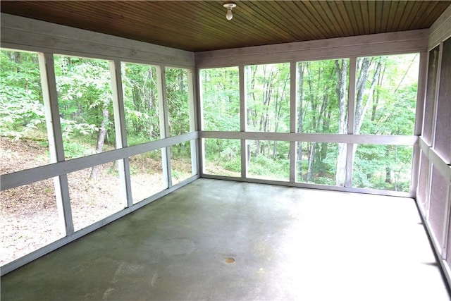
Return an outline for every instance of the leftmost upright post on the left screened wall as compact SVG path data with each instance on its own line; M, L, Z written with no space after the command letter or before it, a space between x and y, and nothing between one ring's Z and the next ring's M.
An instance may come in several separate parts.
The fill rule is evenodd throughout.
M53 54L39 54L39 70L41 73L42 96L47 121L47 136L51 163L65 161L63 135L58 109L58 92ZM74 233L72 210L70 209L69 185L66 174L54 177L56 207L60 220L61 233L66 236Z

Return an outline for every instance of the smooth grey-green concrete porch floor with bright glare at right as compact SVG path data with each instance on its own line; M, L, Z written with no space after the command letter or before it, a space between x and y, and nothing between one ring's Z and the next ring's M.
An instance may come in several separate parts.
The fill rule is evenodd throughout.
M1 300L450 297L412 199L199 179L6 274Z

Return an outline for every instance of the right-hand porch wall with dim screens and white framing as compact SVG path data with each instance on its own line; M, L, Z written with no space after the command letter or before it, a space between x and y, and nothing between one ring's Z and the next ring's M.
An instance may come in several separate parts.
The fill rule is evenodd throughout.
M430 28L416 202L451 284L451 6Z

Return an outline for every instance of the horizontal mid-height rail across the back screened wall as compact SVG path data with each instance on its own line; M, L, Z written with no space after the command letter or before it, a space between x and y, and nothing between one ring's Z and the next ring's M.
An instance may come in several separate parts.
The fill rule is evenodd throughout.
M201 138L413 146L418 136L201 131Z

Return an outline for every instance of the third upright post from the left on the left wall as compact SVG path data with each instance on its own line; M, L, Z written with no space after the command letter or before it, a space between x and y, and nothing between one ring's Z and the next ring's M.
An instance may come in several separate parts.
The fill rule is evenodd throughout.
M168 102L166 99L166 68L165 66L156 67L156 83L158 87L159 100L159 118L160 118L160 137L164 139L169 137L168 123ZM161 149L161 167L163 169L163 183L166 188L172 187L171 175L171 147Z

